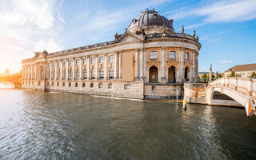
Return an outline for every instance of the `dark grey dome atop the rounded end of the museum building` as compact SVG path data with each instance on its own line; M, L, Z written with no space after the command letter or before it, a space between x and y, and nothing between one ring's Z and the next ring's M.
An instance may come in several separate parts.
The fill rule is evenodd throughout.
M170 21L164 16L158 14L154 10L146 10L142 12L139 18L134 18L128 27L128 31L136 30L143 26L166 26L170 30L174 31L173 20Z

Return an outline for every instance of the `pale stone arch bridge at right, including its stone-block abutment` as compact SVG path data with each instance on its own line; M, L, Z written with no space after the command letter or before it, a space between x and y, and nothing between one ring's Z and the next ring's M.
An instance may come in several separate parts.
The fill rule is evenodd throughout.
M218 78L209 83L185 83L184 99L191 103L218 106L246 106L256 103L256 79Z

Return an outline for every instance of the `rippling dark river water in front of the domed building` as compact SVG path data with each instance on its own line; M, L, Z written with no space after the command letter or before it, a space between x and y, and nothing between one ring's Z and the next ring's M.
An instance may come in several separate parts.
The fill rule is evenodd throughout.
M0 90L0 159L253 159L243 109Z

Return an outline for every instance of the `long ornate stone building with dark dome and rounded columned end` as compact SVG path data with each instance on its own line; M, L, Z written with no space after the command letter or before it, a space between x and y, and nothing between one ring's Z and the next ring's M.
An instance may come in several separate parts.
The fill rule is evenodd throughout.
M22 61L22 88L123 98L176 98L198 82L198 37L175 33L173 19L146 10L114 41ZM178 92L182 95L182 91Z

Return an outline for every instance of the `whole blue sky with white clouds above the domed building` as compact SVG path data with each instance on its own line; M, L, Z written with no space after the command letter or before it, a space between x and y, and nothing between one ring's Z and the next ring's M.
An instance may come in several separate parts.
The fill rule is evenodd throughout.
M146 8L173 18L177 33L196 30L199 71L256 63L256 0L0 0L0 73L36 51L112 41Z

